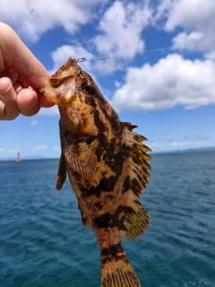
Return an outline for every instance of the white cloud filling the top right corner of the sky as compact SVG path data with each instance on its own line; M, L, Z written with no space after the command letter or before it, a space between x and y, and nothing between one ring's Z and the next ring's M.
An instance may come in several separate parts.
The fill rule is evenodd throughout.
M163 0L157 8L155 24L162 22L162 28L173 31L185 29L173 39L173 48L192 51L214 49L215 1L205 0Z

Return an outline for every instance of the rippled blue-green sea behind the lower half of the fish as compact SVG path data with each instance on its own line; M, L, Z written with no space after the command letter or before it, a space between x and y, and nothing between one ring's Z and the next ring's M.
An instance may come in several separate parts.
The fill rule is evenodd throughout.
M215 152L151 154L142 238L122 239L142 287L215 286ZM0 286L99 287L99 246L58 160L0 164Z

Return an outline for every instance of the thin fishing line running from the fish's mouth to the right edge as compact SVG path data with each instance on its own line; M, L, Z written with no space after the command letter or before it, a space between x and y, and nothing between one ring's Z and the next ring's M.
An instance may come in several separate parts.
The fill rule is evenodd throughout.
M195 44L195 45L188 45L185 46L184 48L193 48L193 47L199 47L199 46L211 46L214 45L215 42L211 42L211 43L203 43L203 44ZM142 50L140 52L136 52L136 54L145 54L145 53L153 53L153 52L162 52L162 51L166 51L166 50L176 50L176 49L180 49L180 47L168 47L168 48L154 48L154 49L149 49L149 50ZM86 60L91 61L91 60L97 60L97 59L104 59L104 58L108 58L108 57L122 57L125 56L125 54L116 54L116 55L109 55L109 56L102 56L102 57L91 57L86 59L85 57L79 58L77 60L77 62L84 62Z

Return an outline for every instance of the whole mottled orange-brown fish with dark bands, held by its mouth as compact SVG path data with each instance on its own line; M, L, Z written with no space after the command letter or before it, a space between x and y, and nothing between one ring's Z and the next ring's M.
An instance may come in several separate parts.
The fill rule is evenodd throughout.
M82 224L94 230L99 242L101 286L141 286L121 237L138 239L150 225L150 214L139 202L150 178L151 150L142 143L147 139L133 132L137 126L120 121L73 57L39 91L60 112L56 189L68 175Z

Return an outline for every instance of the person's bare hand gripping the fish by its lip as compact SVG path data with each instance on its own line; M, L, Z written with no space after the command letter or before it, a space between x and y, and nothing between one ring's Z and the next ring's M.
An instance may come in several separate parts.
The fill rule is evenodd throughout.
M33 116L54 104L39 93L49 74L12 28L0 22L0 120Z

